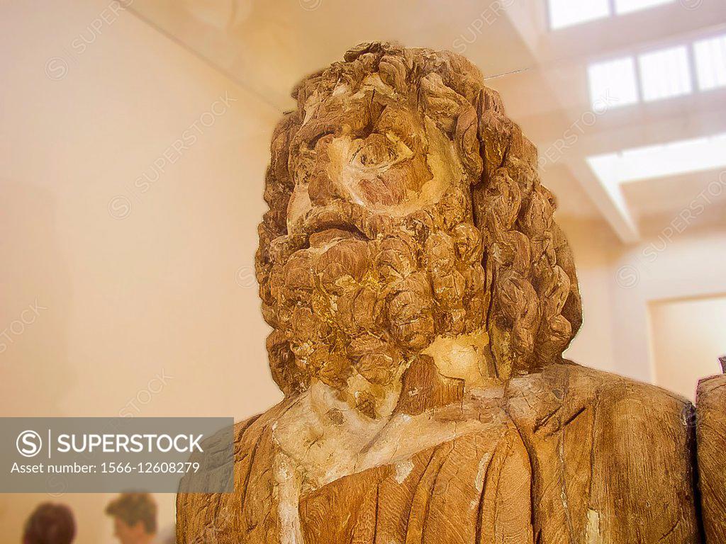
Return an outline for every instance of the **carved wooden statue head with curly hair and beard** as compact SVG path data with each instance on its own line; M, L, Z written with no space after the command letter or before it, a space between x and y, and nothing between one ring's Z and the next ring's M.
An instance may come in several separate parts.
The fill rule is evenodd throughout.
M490 376L561 358L582 321L537 150L448 51L371 43L293 90L256 264L272 374L385 387L437 339L484 338Z

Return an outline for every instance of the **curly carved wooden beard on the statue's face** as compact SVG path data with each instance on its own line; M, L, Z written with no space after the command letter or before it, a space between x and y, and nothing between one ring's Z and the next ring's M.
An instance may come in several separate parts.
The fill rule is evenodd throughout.
M300 389L315 377L343 390L356 373L385 385L437 336L481 329L481 234L470 222L437 227L445 223L437 215L418 211L374 239L346 226L311 234L298 248L293 236L274 241L283 249L271 252L262 286L276 329L268 347L280 359L273 352L285 345L291 353L282 362L294 367L278 371Z

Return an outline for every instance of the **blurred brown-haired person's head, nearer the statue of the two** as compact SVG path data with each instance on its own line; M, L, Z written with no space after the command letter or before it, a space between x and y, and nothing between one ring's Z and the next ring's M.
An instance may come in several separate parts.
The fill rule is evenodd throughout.
M156 503L148 493L122 493L106 507L121 544L144 543L156 532Z

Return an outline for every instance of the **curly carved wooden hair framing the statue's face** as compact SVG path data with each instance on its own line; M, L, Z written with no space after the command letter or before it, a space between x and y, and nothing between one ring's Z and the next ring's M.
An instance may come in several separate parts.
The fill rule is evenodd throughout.
M484 86L468 59L450 51L360 44L346 52L343 62L295 86L298 108L274 130L264 193L269 211L258 228L256 269L264 318L276 326L267 281L269 247L287 234L287 204L294 189L290 157L311 137L307 128L301 130L306 101L314 94L330 96L341 83L355 92L370 75L378 75L450 137L470 177L473 219L484 243L486 325L500 377L559 360L582 323L582 308L571 251L552 218L555 198L539 181L537 149L506 117L499 94ZM343 124L335 115L321 122L330 131ZM277 384L286 394L299 390L290 371L294 356L275 333L268 350Z

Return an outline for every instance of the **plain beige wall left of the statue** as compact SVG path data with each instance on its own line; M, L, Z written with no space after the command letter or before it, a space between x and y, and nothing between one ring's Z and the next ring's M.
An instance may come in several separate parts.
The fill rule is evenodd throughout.
M280 114L109 5L1 6L0 416L243 419L281 397L251 269ZM108 496L0 494L0 543L41 500L113 542Z

